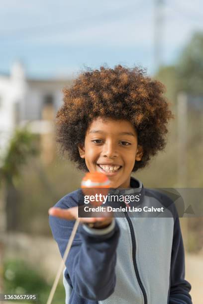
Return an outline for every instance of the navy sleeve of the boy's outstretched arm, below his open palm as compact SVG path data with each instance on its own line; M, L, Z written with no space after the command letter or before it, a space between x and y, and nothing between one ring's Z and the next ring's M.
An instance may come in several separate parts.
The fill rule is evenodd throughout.
M63 257L75 221L50 216L49 223ZM119 233L115 219L103 229L79 225L65 264L67 281L82 298L100 301L113 293Z

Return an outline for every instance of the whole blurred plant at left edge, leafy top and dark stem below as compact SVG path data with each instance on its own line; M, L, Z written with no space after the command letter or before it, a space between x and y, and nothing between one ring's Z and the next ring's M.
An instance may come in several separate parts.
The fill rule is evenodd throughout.
M37 154L36 135L28 132L26 128L16 129L0 167L0 187L4 188L6 202L6 230L17 228L19 193L16 185L20 178L21 167L26 164L30 156Z

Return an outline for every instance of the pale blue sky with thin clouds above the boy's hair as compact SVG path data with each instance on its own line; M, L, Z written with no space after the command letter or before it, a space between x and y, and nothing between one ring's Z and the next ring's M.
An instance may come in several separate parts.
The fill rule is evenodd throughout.
M0 74L15 61L33 78L104 64L139 65L153 74L155 1L164 2L162 62L172 64L193 33L203 31L201 0L1 0Z

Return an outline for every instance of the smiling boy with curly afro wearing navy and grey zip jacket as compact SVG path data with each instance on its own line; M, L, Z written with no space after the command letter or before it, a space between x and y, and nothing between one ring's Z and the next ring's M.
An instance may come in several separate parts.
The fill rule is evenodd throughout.
M66 261L66 303L192 303L175 206L131 177L165 147L173 115L163 92L163 84L142 70L122 66L85 72L64 91L58 141L70 159L80 169L106 174L112 188L144 194L141 204L154 202L171 214L83 218ZM49 211L62 256L78 216L78 194L66 195Z

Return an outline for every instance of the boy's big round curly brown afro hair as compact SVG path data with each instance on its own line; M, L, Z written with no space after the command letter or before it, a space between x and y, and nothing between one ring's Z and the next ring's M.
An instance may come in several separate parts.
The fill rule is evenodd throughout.
M134 126L143 156L133 171L165 148L167 123L173 114L163 96L165 86L145 73L138 67L101 67L85 71L64 89L64 103L56 115L57 142L79 169L88 170L78 145L84 144L89 125L99 116L128 120Z

